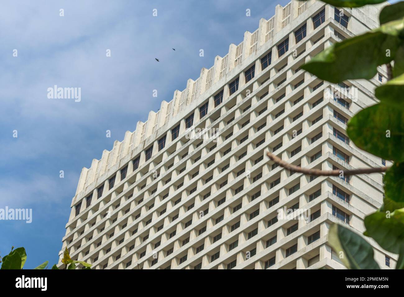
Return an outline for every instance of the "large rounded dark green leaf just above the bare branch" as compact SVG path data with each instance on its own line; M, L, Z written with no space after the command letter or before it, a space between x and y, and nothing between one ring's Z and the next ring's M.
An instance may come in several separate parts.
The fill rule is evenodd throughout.
M404 110L383 103L361 110L348 122L356 146L385 160L404 160ZM389 136L389 137L387 137Z

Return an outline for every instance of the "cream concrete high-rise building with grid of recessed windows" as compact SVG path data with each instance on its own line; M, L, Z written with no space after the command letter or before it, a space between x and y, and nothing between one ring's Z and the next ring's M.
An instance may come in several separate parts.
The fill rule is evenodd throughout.
M300 69L332 43L377 27L383 5L276 6L82 169L62 250L96 269L343 268L328 245L330 224L363 232L365 215L383 202L383 175L311 177L266 152L324 170L386 163L345 132L349 118L377 103L385 69L338 85ZM369 242L379 265L394 268L396 255Z

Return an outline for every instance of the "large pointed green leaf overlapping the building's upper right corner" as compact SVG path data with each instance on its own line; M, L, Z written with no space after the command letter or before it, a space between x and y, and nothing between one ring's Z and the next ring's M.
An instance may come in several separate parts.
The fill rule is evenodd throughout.
M373 78L378 65L394 59L403 32L404 19L391 21L371 32L329 46L301 68L333 83Z

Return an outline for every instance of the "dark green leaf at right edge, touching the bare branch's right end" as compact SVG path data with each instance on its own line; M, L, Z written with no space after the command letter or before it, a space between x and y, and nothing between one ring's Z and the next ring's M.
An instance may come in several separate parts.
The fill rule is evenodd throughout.
M404 202L404 162L396 162L387 170L384 191L391 200Z

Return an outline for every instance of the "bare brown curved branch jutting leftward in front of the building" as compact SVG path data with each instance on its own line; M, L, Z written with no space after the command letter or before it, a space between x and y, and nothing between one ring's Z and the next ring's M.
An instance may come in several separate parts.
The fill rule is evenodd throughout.
M271 154L270 152L267 152L267 156L269 159L275 162L275 164L278 164L279 166L292 170L294 172L298 173L303 173L306 175L317 175L317 176L339 176L341 174L341 170L335 169L335 170L321 170L321 169L308 169L308 168L302 168L293 164L290 164L278 156L275 156L274 154ZM389 167L377 167L377 168L360 168L360 169L353 169L353 170L342 170L343 175L356 175L356 174L368 174L368 173L380 173L380 172L385 172L389 169Z

